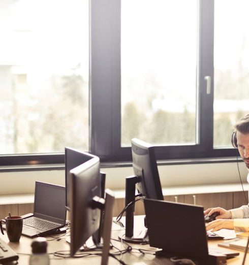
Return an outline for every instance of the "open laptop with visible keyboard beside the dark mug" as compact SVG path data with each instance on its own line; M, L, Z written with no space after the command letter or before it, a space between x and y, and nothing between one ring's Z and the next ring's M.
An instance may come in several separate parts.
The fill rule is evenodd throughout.
M66 188L36 181L34 213L23 215L22 235L53 234L66 224Z

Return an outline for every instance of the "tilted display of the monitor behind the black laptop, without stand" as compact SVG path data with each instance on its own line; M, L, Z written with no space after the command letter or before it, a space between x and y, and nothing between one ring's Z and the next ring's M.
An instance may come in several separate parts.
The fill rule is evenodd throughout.
M132 161L134 174L139 177L139 192L147 198L164 200L153 146L132 139Z

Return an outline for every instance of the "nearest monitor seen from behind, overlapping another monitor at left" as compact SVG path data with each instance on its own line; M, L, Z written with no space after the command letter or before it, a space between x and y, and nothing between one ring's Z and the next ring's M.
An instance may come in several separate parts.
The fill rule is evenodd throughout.
M99 229L104 199L101 198L100 159L93 157L69 175L70 254L73 256Z

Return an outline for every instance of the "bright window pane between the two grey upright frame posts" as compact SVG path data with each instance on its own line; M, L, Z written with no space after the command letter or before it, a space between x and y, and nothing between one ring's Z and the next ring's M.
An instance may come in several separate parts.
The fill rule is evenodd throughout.
M121 144L196 142L198 1L121 1Z

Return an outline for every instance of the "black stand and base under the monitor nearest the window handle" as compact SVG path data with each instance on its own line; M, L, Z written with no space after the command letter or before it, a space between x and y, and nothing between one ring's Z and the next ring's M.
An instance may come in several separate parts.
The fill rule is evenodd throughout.
M126 177L126 206L135 201L136 184L139 177ZM134 233L134 210L135 205L130 206L126 210L126 233L120 232L118 238L129 243L145 243L148 244L147 228L139 229Z

